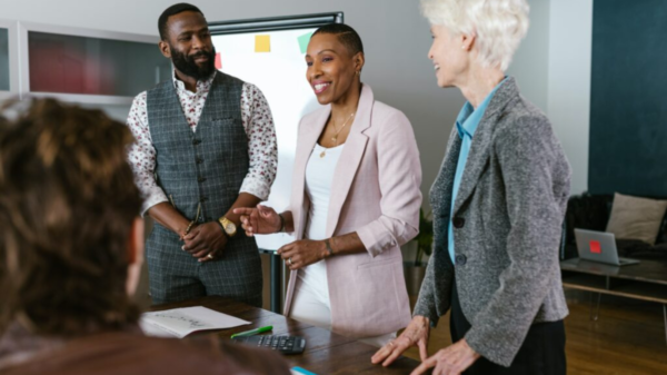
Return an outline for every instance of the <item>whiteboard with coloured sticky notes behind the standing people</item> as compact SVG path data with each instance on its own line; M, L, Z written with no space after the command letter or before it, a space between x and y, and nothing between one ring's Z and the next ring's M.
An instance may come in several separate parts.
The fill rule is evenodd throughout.
M289 205L299 120L320 107L306 80L303 41L315 30L308 27L212 36L217 67L257 86L271 108L278 138L278 174L266 205L278 213ZM260 249L277 250L293 241L293 237L275 234L256 236L256 240Z

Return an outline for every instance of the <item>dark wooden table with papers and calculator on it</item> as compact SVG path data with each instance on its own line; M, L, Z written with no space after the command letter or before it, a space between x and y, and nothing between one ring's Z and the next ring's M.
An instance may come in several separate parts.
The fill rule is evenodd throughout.
M210 309L252 322L251 325L229 329L211 330L208 335L217 335L229 339L229 336L268 325L273 326L269 334L289 334L306 338L306 351L298 355L286 355L290 366L303 367L318 375L327 374L409 374L419 362L400 357L389 367L370 363L376 347L359 343L354 338L344 337L327 329L315 327L280 314L252 307L231 299L209 296L181 303L152 306L151 310L162 310L178 307L203 306ZM430 374L430 372L429 372Z

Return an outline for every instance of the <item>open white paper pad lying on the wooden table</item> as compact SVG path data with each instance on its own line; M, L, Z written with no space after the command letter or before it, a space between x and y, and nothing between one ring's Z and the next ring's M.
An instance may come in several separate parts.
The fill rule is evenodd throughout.
M147 336L178 337L207 329L225 329L250 324L243 319L203 306L141 314L139 326Z

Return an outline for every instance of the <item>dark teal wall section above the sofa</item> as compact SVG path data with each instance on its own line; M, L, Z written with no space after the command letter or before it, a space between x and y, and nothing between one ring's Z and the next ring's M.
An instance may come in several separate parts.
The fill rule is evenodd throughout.
M665 0L595 3L588 164L591 194L667 197L665 19Z

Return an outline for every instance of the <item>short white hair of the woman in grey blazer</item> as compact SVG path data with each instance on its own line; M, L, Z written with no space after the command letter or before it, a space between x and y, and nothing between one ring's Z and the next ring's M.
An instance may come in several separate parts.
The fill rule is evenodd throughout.
M528 31L526 0L421 0L431 24L455 34L475 34L479 62L507 70Z

